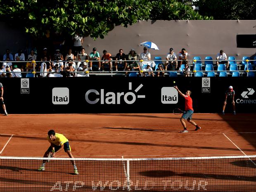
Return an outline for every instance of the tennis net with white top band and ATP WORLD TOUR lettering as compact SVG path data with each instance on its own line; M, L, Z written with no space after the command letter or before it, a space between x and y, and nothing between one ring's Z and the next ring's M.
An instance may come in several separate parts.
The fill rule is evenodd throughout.
M44 171L38 171L43 160ZM75 175L71 160L79 174ZM0 192L256 191L256 156L156 159L0 157Z

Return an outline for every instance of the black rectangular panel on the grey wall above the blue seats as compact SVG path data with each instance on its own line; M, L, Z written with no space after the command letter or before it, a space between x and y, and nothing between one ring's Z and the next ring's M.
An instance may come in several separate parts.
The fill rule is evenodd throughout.
M237 47L255 48L256 34L255 35L237 35Z

